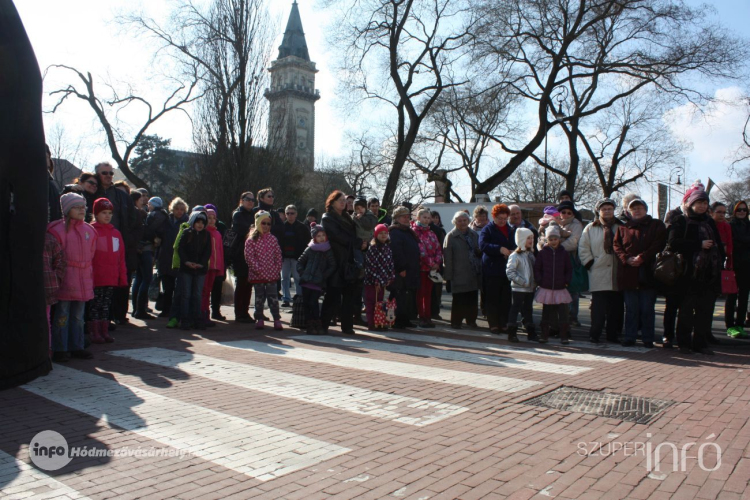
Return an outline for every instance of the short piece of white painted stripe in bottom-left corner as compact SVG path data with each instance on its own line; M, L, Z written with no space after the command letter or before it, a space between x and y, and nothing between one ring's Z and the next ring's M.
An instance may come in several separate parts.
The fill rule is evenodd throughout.
M0 450L0 498L78 498L88 500L73 488Z

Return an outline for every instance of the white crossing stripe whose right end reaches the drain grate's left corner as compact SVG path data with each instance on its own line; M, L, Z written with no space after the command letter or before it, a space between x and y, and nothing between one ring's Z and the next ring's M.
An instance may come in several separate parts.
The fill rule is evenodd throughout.
M234 349L249 350L259 354L283 356L288 359L310 361L313 363L326 363L329 365L340 366L342 368L352 368L355 370L385 373L387 375L395 375L397 377L414 378L419 380L429 380L431 382L443 382L446 384L476 387L478 389L486 389L490 391L518 392L530 387L541 385L541 382L535 382L533 380L521 380L517 378L501 377L497 375L485 375L481 373L449 370L446 368L414 365L411 363L401 363L398 361L385 361L380 359L373 359L371 357L367 358L362 356L350 356L347 354L339 354L335 352L317 351L314 349L305 349L301 347L293 347L282 344L270 344L266 342L256 342L252 340L218 342L216 345L232 347Z

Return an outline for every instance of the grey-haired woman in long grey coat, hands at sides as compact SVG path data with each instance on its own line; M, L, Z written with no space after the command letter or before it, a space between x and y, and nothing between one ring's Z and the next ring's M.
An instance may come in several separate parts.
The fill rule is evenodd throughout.
M446 235L443 243L444 278L451 284L453 304L451 328L460 329L465 320L477 326L477 293L482 286L482 251L479 236L469 227L469 214L456 212L455 228Z

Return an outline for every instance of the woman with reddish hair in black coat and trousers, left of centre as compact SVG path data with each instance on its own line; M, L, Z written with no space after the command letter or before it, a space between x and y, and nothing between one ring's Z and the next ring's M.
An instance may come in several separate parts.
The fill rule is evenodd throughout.
M326 200L326 213L322 219L331 250L336 259L336 272L328 278L326 296L320 313L320 322L325 333L336 312L341 318L341 333L354 334L354 298L357 273L353 272L354 248L364 250L367 242L357 238L356 225L346 212L346 195L334 191Z

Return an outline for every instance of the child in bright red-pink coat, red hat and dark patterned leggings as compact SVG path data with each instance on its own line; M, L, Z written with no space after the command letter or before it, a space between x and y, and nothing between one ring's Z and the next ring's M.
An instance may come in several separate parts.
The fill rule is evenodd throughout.
M91 342L103 344L114 342L109 336L109 309L115 287L128 286L128 271L125 266L125 241L120 231L110 222L115 207L107 198L94 201L92 224L99 235L94 254L94 299L89 309L89 332Z

